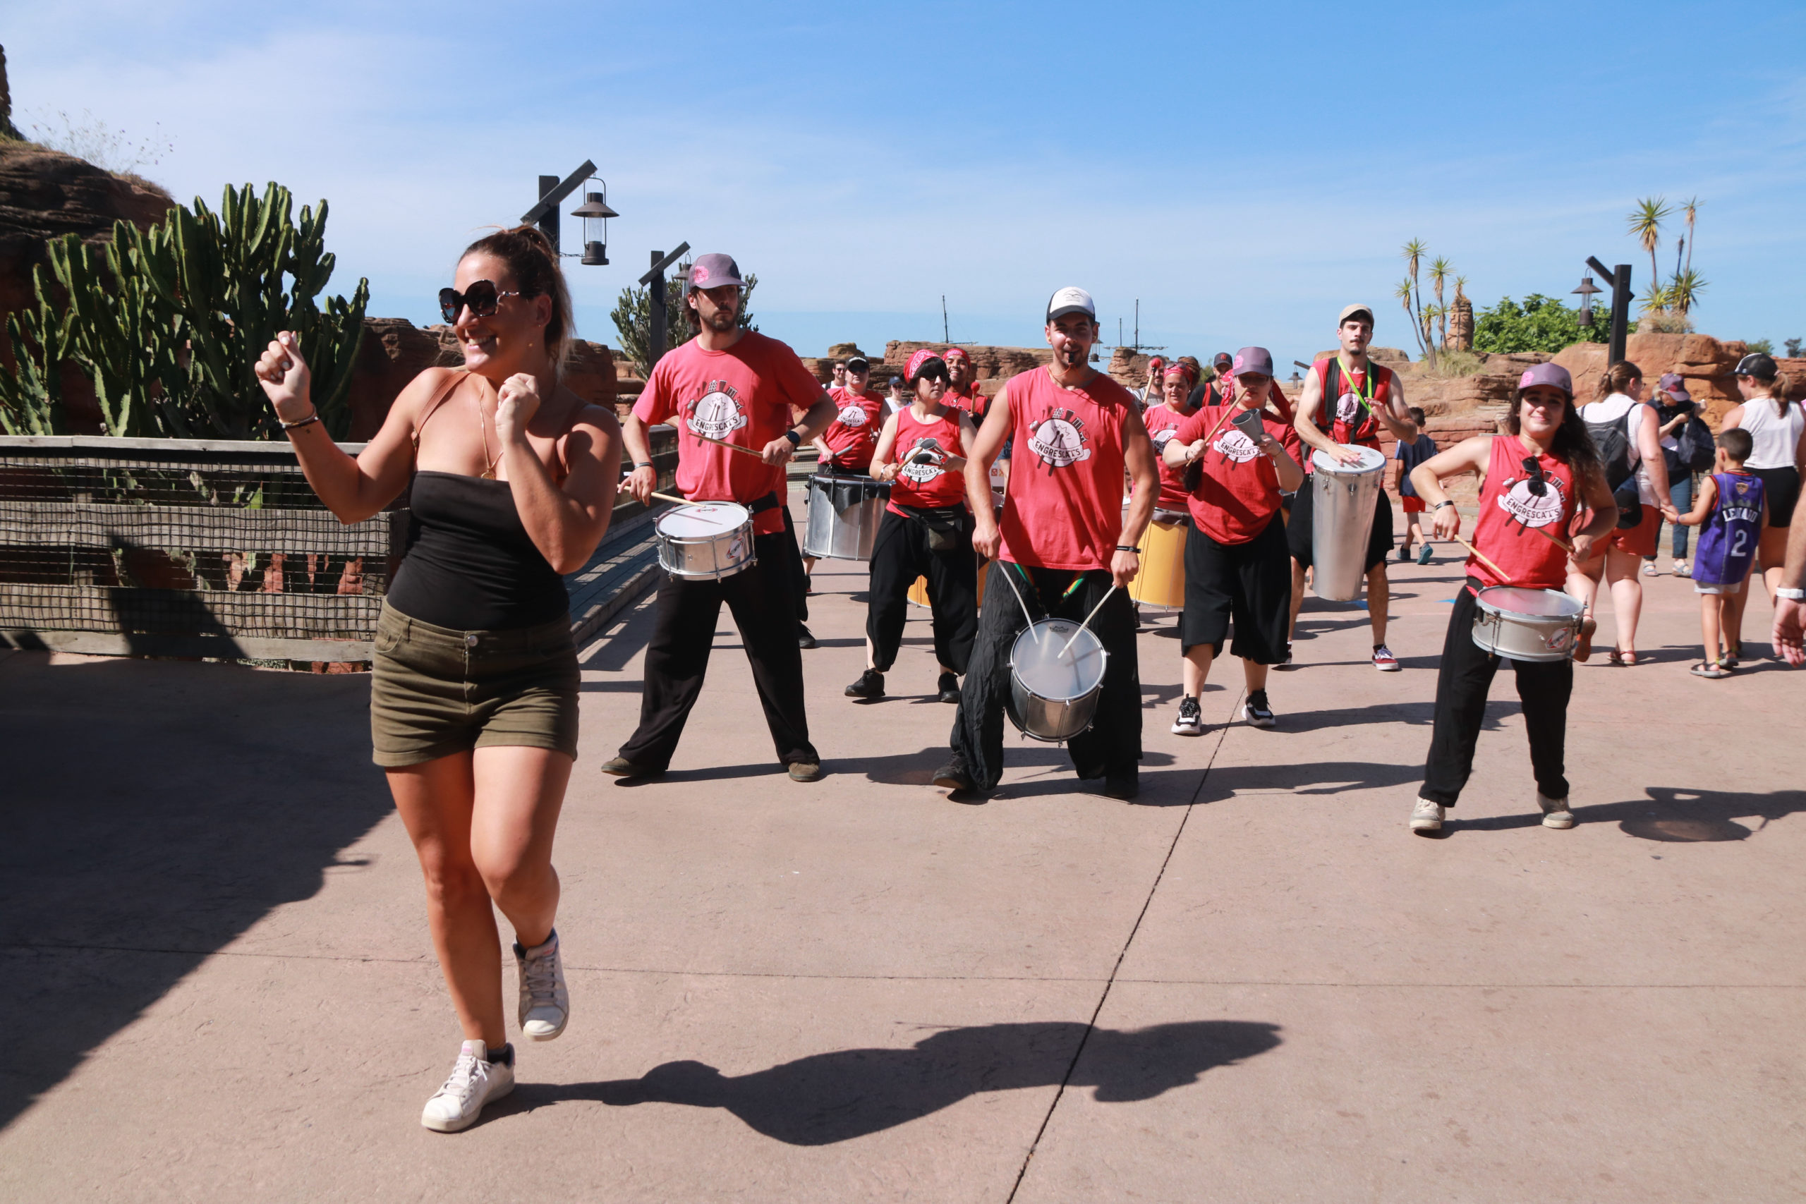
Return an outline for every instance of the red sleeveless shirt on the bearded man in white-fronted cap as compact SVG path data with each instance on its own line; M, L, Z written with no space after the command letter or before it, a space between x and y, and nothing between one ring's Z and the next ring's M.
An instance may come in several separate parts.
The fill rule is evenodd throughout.
M1141 421L1134 394L1102 372L1060 388L1047 368L1029 368L999 397L1010 399L1013 440L1002 560L1107 569L1123 529L1123 422Z

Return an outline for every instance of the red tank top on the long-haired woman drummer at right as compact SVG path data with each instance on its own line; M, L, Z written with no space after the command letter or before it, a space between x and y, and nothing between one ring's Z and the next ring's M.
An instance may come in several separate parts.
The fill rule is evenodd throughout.
M1492 558L1510 585L1531 590L1559 590L1568 583L1568 552L1544 540L1530 527L1541 527L1560 536L1577 509L1575 473L1568 460L1537 455L1542 469L1542 491L1535 489L1535 473L1524 460L1535 455L1517 435L1494 435L1492 455L1486 460L1486 482L1479 487L1479 518L1474 523L1474 547ZM1468 576L1481 585L1506 585L1499 574L1468 556Z

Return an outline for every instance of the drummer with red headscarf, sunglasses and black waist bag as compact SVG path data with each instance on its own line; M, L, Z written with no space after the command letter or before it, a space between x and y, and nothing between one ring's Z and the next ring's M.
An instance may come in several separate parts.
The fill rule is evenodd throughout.
M849 699L881 699L908 619L908 588L928 578L936 693L959 702L959 675L979 630L979 561L972 554L966 509L966 448L979 430L972 415L946 404L946 361L926 347L905 368L916 399L885 421L872 475L890 482L890 504L872 540L870 603L865 612L865 673Z

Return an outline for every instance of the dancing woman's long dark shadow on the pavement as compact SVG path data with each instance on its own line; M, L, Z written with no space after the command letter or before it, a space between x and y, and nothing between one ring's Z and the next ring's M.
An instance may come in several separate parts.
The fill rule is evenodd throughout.
M565 1099L674 1103L726 1108L766 1137L825 1146L907 1125L981 1092L1058 1087L1082 1042L1071 1087L1091 1087L1103 1103L1152 1099L1280 1043L1279 1025L1248 1020L1096 1029L1089 1038L1085 1029L1076 1022L986 1023L946 1029L910 1049L840 1049L740 1076L701 1061L666 1061L638 1079L522 1085L493 1116Z

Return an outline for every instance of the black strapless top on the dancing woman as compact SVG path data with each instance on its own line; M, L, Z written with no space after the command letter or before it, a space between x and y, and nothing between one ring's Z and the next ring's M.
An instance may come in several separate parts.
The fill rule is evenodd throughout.
M538 626L571 614L563 578L540 554L506 480L414 475L408 547L388 605L455 632Z

